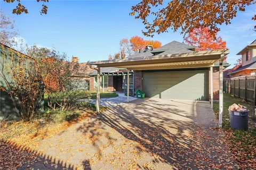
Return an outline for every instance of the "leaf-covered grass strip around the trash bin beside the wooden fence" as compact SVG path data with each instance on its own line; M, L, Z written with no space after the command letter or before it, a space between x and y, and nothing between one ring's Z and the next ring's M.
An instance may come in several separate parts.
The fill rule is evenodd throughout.
M250 110L249 130L234 130L230 128L228 107L232 104L241 104ZM219 118L219 103L213 103L213 111ZM238 160L239 168L253 169L256 166L256 118L254 106L240 98L232 97L230 94L223 95L223 122L222 128L228 141L228 146ZM227 120L226 120L227 119ZM254 163L253 163L254 162Z

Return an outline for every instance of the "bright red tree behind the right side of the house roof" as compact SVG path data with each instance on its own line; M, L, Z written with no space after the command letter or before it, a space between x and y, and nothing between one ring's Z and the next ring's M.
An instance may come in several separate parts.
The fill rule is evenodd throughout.
M184 37L184 41L196 47L196 51L227 48L226 41L223 41L220 36L217 37L217 32L212 35L209 28L194 29L188 33L188 36Z

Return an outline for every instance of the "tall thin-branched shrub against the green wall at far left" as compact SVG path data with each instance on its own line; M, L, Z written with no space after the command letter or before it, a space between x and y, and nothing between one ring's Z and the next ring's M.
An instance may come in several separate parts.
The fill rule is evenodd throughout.
M36 61L26 55L1 46L0 77L6 86L0 87L12 98L19 117L29 120L41 105L43 82Z

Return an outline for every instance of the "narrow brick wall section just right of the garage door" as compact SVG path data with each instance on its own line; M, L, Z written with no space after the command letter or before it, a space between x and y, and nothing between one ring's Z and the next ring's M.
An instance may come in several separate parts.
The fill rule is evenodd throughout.
M220 72L219 67L213 67L213 100L219 100ZM209 99L211 98L211 72L209 69Z

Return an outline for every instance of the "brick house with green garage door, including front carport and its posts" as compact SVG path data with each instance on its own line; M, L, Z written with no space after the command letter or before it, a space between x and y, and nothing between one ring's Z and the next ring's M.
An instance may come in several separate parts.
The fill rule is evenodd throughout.
M195 47L193 46L172 41L156 50L146 48L143 52L136 53L122 60L89 62L88 64L94 70L97 70L97 112L100 112L100 89L105 88L105 86L101 87L101 83L99 83L103 76L101 70L106 67L116 67L127 70L125 82L129 84L129 86L126 85L126 87L129 87L126 92L128 102L131 88L133 88L141 89L145 92L146 97L210 100L211 107L213 108L213 93L218 91L219 127L221 127L223 112L223 61L225 61L225 56L228 54L228 49L195 52ZM219 63L217 64L217 62ZM130 71L133 72L132 79L130 79ZM90 86L94 87L94 79L94 76L90 78ZM130 80L134 86L131 86ZM103 82L103 84L105 83Z

